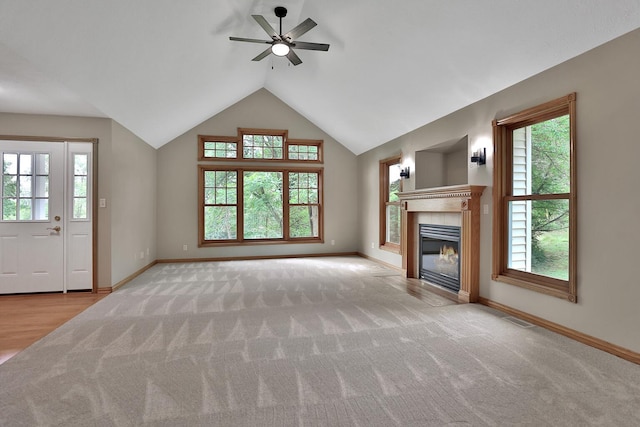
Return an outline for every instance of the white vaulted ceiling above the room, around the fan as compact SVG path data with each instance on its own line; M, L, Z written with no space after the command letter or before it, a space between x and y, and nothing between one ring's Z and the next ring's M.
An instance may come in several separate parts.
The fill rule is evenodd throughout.
M229 41L268 39L250 15L277 29L275 6L329 51ZM264 87L360 154L639 27L640 0L0 0L0 112L160 147Z

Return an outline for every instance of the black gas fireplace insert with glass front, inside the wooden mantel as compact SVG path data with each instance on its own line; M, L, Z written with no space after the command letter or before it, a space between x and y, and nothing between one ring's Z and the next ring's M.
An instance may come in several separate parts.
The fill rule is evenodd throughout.
M450 291L460 290L460 227L420 224L420 278Z

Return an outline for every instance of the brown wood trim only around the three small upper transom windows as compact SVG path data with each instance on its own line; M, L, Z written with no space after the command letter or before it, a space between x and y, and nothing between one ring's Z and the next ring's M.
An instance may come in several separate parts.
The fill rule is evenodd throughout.
M243 157L243 137L244 135L268 135L282 137L283 157L282 159L254 159ZM236 144L237 157L205 157L204 144L206 142L230 142ZM318 147L317 160L290 159L289 145L307 145ZM238 128L236 136L216 136L216 135L198 135L198 161L206 162L266 162L266 163L304 163L304 164L322 164L323 145L321 139L300 139L289 138L289 131L286 129L254 129L254 128Z

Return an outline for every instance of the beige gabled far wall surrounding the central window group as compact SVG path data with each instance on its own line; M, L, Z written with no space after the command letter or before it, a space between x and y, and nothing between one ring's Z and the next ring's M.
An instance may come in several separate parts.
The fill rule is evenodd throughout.
M324 140L324 244L198 248L197 139L235 136L238 127L288 129L289 137ZM318 254L356 250L356 156L261 89L158 150L158 258ZM335 245L331 241L335 240ZM183 250L187 245L187 250Z

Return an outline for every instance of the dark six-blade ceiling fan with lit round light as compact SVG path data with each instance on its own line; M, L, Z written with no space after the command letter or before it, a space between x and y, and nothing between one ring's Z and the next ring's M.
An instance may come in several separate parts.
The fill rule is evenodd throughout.
M229 37L229 40L249 43L266 43L271 45L260 55L253 58L253 61L260 61L261 59L264 59L273 53L276 56L286 56L293 65L300 65L302 64L302 60L298 55L296 55L296 53L293 51L293 48L321 50L325 52L329 50L329 45L325 43L309 43L295 40L318 25L313 19L307 18L293 30L289 31L286 34L282 34L282 18L287 16L287 9L282 6L278 6L274 11L276 13L276 16L280 18L279 33L273 29L273 27L267 22L266 19L264 19L262 15L251 15L253 19L255 19L256 22L258 22L258 24L262 27L262 29L265 30L269 36L271 36L271 40L246 39L243 37Z

